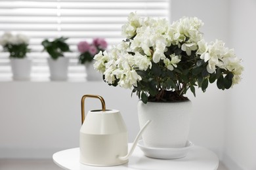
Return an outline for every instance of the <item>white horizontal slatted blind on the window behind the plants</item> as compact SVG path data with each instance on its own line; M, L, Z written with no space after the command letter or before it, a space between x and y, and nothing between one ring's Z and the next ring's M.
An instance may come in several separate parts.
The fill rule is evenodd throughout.
M122 41L121 25L130 12L140 16L169 18L169 0L0 0L0 36L5 31L24 33L30 37L27 56L32 58L32 77L48 78L48 54L42 52L43 39L68 37L72 52L68 76L85 78L85 68L79 65L77 43L91 42L93 38L106 39L113 45ZM0 78L11 78L9 54L0 47Z

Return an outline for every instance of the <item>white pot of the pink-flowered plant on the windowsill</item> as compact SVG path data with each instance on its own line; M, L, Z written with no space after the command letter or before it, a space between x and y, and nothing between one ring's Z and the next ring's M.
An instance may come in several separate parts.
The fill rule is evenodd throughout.
M93 67L93 64L95 61L91 63L85 63L85 71L86 71L86 78L89 81L100 81L102 80L102 74L96 71L96 69Z

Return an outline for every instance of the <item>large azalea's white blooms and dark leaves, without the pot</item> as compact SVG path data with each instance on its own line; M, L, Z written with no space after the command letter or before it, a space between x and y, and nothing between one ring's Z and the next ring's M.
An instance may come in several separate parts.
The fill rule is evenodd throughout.
M95 68L112 86L131 88L144 103L188 100L195 87L203 92L217 80L217 87L238 84L243 71L233 49L223 41L205 42L198 18L165 19L129 14L122 32L126 40L109 52L96 54Z

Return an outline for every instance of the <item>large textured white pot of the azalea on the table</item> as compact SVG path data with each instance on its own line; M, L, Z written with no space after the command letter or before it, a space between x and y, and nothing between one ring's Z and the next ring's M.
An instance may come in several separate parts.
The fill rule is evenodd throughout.
M154 148L179 148L186 145L190 129L191 101L138 103L139 124L152 120L142 134L144 145Z

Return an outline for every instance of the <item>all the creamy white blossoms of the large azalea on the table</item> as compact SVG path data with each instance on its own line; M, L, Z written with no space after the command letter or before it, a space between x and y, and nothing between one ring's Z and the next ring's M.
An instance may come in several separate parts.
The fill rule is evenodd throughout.
M221 41L207 44L199 31L203 22L198 18L181 18L173 24L165 19L140 18L136 13L129 14L128 22L123 25L122 33L129 41L114 46L110 52L100 52L95 56L95 68L103 73L105 81L113 84L117 80L119 86L131 88L137 86L142 78L137 71L151 69L152 62L161 60L171 71L181 61L181 55L165 56L167 47L178 46L188 56L192 51L208 62L207 71L214 73L220 67L232 71L234 83L240 80L242 66L234 56L233 50L224 47Z

